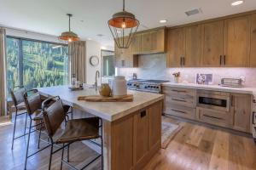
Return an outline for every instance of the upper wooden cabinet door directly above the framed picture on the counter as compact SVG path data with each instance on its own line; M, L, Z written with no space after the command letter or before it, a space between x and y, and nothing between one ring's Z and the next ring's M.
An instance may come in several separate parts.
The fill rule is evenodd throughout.
M224 44L224 20L202 25L202 65L220 66Z

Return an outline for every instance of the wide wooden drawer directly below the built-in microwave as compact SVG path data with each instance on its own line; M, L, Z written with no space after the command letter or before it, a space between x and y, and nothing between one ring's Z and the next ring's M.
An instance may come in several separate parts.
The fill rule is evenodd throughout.
M212 109L196 107L196 118L201 122L221 127L232 127L233 125L233 114L227 111L213 111Z

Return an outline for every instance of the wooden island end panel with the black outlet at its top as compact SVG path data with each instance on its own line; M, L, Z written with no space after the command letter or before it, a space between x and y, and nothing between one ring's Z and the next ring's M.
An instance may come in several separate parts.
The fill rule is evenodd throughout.
M148 110L138 111L134 116L134 157L137 163L148 151Z

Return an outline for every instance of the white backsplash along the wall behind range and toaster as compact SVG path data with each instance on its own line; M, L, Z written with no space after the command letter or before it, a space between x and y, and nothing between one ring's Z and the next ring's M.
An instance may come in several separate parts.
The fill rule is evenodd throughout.
M180 81L195 82L196 73L211 73L213 84L218 84L223 77L246 77L245 87L256 87L256 68L166 68L166 54L146 54L139 56L139 68L118 68L117 75L132 78L132 73L137 73L137 78L170 80L173 82L172 73L180 71Z

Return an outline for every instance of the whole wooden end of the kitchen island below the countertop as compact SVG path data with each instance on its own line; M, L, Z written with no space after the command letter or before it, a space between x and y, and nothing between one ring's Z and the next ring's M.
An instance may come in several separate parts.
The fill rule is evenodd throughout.
M110 154L113 161L109 162L109 169L143 169L160 150L162 105L163 101L156 102L116 122L108 122L108 126L104 125L108 128L105 132L109 133L105 135L108 139L104 139L104 143L113 143Z

